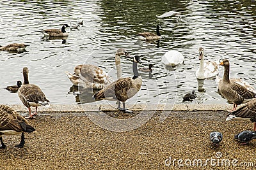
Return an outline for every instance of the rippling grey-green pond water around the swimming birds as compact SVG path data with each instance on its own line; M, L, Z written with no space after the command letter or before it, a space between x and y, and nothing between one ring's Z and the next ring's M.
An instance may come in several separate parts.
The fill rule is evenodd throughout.
M1 87L23 80L22 67L29 68L29 81L39 85L52 104L79 103L68 94L72 83L65 71L78 64L103 67L116 79L115 51L125 48L131 55L143 55L142 66L154 64L153 77L141 73L140 92L128 103L182 103L184 94L195 90L193 103L227 103L217 93L215 80L198 82L198 48L205 49L205 60L229 59L230 77L244 78L254 87L256 67L255 1L5 1L0 2L0 44L26 43L28 52L0 55ZM157 18L165 11L179 11L181 18ZM42 29L76 25L66 43L43 39ZM161 24L159 43L138 41L138 32L156 30ZM161 64L168 50L179 50L185 57L174 71ZM122 57L122 71L132 74L131 60ZM223 67L220 67L223 76ZM199 85L199 87L198 87ZM198 92L204 88L205 92ZM0 103L20 104L17 94L0 89ZM90 95L81 95L88 102ZM175 98L176 97L176 98ZM84 98L84 101L83 99ZM138 99L138 100L137 100Z

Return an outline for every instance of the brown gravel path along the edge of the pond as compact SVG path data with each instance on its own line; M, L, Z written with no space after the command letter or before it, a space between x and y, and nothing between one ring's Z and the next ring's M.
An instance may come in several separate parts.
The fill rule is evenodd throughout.
M0 150L0 169L252 169L256 141L241 145L234 135L252 130L253 124L226 122L225 115L227 111L173 111L159 122L157 112L138 129L112 132L85 114L39 113L29 120L36 131L25 134L24 148L14 147L19 135L3 136L7 148ZM220 148L212 148L211 131L223 133Z

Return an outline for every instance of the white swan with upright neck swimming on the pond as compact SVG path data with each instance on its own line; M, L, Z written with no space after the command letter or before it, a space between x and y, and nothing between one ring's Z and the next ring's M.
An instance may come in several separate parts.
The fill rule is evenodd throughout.
M196 70L197 79L212 78L219 74L219 66L217 62L207 61L204 62L204 48L199 48L200 65Z

